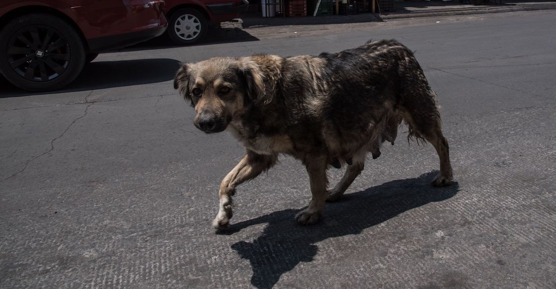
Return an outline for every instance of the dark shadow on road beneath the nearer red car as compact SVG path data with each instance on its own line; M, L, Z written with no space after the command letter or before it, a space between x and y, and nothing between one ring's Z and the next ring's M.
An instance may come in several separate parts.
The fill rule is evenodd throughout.
M163 82L173 79L179 67L179 61L168 58L91 62L83 68L80 76L69 86L57 91L42 93L23 91L0 77L0 87L5 87L0 91L0 98L89 91L91 89Z

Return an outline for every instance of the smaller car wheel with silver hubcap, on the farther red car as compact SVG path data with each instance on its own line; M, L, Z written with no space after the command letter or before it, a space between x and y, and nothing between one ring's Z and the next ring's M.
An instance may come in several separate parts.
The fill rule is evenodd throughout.
M209 23L197 9L185 8L173 12L168 23L168 36L180 45L193 44L205 37Z

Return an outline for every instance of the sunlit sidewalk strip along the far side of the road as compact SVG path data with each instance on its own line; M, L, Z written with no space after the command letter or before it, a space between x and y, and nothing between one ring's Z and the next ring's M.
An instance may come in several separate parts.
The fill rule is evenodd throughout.
M525 0L507 0L502 4L494 4L490 1L486 5L472 5L460 3L459 0L444 1L401 1L394 2L391 11L380 11L377 13L360 13L355 15L331 15L331 16L307 16L307 17L261 17L259 13L242 15L239 22L224 22L223 28L260 28L271 26L294 26L294 25L316 25L316 24L343 24L382 22L388 19L415 18L428 16L450 16L466 14L500 13L514 11L533 11L543 9L556 9L556 1L545 0L528 2Z

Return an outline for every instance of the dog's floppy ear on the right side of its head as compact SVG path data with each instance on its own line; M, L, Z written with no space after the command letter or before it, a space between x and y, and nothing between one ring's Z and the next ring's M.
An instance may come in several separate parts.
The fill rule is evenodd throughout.
M249 57L240 59L240 69L245 77L247 85L247 96L251 101L263 104L270 103L271 95L267 95L264 81L264 74L261 72L259 64Z

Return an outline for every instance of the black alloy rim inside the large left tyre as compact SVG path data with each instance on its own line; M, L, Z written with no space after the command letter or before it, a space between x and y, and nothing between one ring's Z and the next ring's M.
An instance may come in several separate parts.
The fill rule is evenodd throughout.
M61 76L69 66L67 39L48 26L19 29L8 43L8 63L27 81L47 82Z

